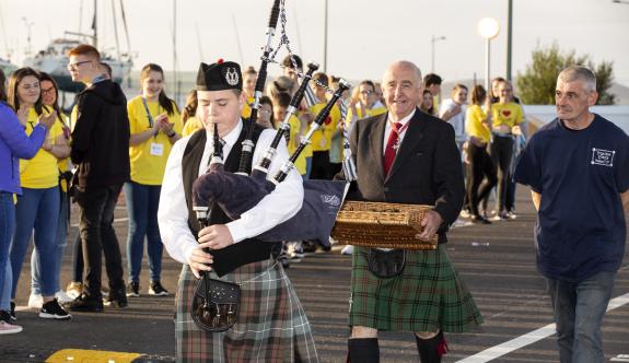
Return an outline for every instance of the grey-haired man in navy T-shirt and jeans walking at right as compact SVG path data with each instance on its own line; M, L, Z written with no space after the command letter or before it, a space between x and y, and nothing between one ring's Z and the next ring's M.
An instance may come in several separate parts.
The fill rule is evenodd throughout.
M596 77L557 79L557 118L535 133L515 169L537 210L537 270L546 278L561 362L603 362L601 321L625 255L629 138L592 114Z

